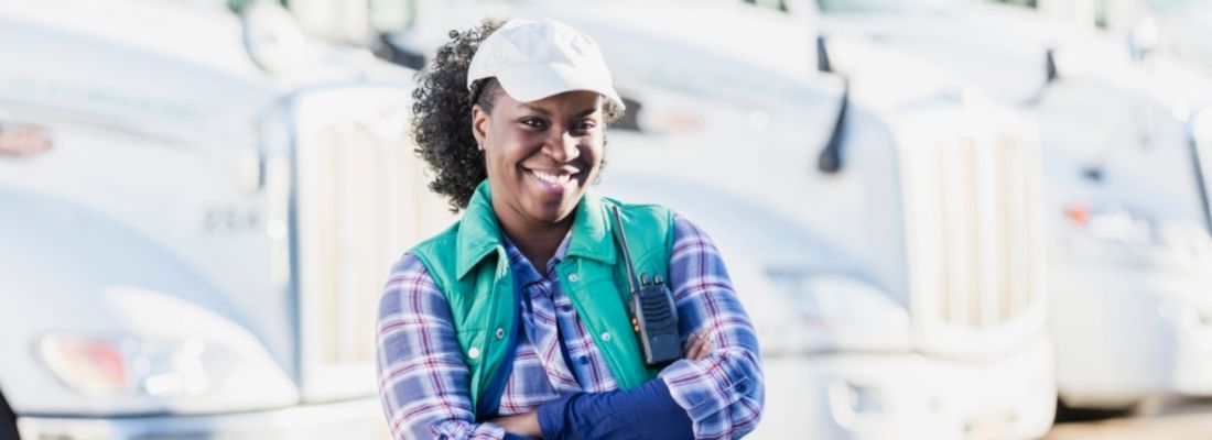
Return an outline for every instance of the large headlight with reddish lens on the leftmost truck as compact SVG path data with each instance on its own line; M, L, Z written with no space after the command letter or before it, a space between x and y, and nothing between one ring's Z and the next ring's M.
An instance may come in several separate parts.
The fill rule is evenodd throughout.
M65 320L30 341L73 405L122 412L213 413L297 404L298 386L241 323L185 297L109 285L104 319Z

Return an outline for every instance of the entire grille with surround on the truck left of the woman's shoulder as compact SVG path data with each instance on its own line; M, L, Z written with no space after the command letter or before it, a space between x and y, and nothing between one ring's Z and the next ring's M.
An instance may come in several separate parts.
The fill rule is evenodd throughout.
M425 186L423 162L402 127L402 120L371 117L298 133L295 278L304 382L373 369L375 323L388 270L452 219L445 201ZM373 386L371 377L360 378ZM349 387L330 389L343 394Z

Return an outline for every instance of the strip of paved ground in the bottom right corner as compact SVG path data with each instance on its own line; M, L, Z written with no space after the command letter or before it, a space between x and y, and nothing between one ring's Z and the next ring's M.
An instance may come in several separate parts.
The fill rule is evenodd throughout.
M1212 403L1161 405L1150 415L1098 422L1060 423L1045 440L1207 440L1212 439Z

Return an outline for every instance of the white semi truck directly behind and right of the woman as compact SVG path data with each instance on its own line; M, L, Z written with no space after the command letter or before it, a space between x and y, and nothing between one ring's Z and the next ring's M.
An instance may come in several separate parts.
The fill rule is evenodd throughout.
M493 5L602 46L638 132L608 135L601 191L674 207L725 251L762 347L754 438L1047 430L1041 170L1024 115L893 53L850 60L869 69L846 80L821 74L811 29L741 5ZM433 51L417 29L478 21L416 18L384 39L404 59ZM896 73L920 81L892 87Z

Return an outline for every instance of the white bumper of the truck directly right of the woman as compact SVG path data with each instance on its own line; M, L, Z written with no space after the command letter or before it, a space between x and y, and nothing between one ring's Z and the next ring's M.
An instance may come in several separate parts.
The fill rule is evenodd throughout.
M1056 412L1052 363L1046 338L984 363L914 353L764 359L754 438L1040 438Z

